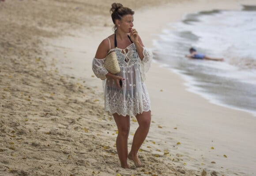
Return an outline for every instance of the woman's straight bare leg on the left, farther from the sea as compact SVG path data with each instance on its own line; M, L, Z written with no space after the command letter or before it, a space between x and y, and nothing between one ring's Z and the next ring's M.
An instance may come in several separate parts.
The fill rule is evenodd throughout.
M119 116L117 113L113 114L117 124L117 154L122 168L129 168L127 163L128 157L128 135L130 131L130 117Z

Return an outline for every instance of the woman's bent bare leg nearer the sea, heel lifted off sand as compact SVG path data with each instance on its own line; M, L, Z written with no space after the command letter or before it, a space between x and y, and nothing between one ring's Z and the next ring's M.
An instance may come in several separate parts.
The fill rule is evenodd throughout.
M136 167L142 167L141 162L139 161L138 151L142 143L147 137L150 123L151 123L151 111L143 112L142 114L137 114L136 119L139 123L139 127L136 130L136 133L133 137L132 148L128 154L128 158L134 161Z

